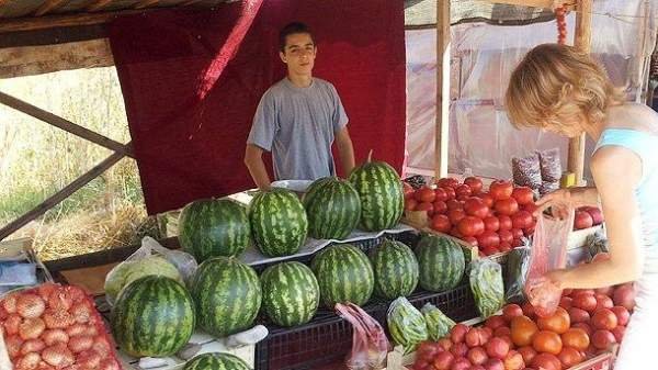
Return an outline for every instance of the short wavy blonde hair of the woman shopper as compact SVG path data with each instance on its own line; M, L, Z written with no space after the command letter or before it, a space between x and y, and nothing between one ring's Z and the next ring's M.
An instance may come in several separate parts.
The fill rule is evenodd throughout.
M588 54L544 44L514 69L504 100L514 126L559 128L583 116L590 123L602 121L608 108L625 96Z

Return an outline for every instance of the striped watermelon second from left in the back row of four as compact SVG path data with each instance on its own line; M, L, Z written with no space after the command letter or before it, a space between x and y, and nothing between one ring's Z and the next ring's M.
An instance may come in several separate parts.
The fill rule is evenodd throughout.
M306 240L306 211L290 190L274 188L253 197L249 221L256 245L268 257L294 255Z

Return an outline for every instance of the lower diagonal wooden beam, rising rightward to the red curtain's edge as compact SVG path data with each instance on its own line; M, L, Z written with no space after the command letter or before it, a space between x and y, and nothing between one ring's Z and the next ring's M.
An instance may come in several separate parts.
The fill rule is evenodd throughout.
M126 144L126 150L127 150L128 145L129 145L129 143ZM0 228L0 240L10 236L11 234L16 232L21 227L29 224L31 221L43 215L48 210L50 210L55 205L59 204L61 201L69 198L72 193L75 193L80 188L82 188L87 183L89 183L89 181L95 179L101 173L103 173L107 168L114 166L114 164L120 161L123 157L125 157L125 150L123 150L123 153L115 152L110 157L105 158L105 160L101 161L95 167L93 167L92 169L87 171L84 175L82 175L79 178L77 178L76 180L73 180L73 182L69 183L64 189L61 189L58 192L56 192L55 194L53 194L50 198L43 201L39 205L35 206L32 211L25 213L24 215L12 221L4 227Z

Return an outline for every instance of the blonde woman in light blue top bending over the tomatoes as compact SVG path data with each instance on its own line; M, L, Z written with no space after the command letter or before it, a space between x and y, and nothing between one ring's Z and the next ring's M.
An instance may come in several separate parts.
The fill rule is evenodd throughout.
M615 370L647 369L658 330L658 114L628 103L590 56L571 46L532 49L513 71L506 96L511 122L597 142L590 160L595 188L558 190L537 202L557 215L567 205L600 204L610 259L555 270L563 289L636 281L635 312Z

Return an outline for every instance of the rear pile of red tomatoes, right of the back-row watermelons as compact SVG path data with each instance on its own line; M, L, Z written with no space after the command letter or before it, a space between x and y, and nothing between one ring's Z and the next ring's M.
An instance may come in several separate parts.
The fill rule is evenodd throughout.
M405 184L405 209L427 212L431 228L477 246L484 256L521 245L536 222L532 189L497 180L485 191L476 177L463 183L443 178L417 190Z

